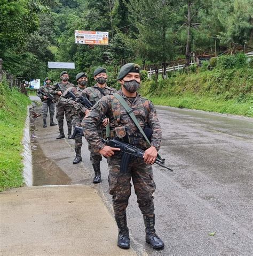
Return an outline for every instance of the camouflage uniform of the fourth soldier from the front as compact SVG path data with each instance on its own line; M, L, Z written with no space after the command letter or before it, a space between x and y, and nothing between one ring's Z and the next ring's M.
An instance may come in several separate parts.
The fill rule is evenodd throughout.
M61 134L64 134L64 114L65 114L65 118L67 121L67 125L68 125L68 135L72 133L72 118L70 117L70 112L69 112L69 108L67 108L67 106L65 104L62 104L61 102L59 102L60 99L60 95L57 94L57 92L60 91L58 84L61 86L61 88L63 89L63 91L65 92L66 89L68 89L69 87L74 86L73 84L71 84L70 82L67 83L63 83L63 82L58 82L56 85L53 85L51 87L50 93L54 95L54 99L56 101L56 118L58 121L58 126L59 126L59 131ZM62 93L64 93L62 92Z

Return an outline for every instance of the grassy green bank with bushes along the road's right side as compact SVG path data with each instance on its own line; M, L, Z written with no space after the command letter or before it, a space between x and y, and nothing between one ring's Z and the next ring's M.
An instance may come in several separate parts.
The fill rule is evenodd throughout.
M140 92L155 104L253 117L253 69L243 54L223 56L217 66L145 81Z

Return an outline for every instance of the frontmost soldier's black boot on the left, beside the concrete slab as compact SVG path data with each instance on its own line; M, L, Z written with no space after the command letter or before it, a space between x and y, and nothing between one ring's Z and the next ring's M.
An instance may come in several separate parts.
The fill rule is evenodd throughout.
M127 215L115 217L118 226L118 242L117 246L121 249L130 248L129 230L127 226Z

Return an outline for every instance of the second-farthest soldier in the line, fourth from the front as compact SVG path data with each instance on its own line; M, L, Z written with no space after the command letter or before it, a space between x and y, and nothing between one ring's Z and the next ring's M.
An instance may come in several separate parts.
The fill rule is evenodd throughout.
M59 102L59 98L62 95L62 93L66 91L67 88L74 85L68 81L69 75L67 71L62 71L60 74L60 78L61 78L61 82L58 82L56 85L52 86L52 89L50 91L50 93L53 94L56 99L56 118L58 121L58 126L60 131L59 136L56 138L57 140L65 138L64 114L65 114L67 125L68 125L68 139L71 139L71 133L72 133L72 124L71 124L69 109L66 108L65 104L61 104Z

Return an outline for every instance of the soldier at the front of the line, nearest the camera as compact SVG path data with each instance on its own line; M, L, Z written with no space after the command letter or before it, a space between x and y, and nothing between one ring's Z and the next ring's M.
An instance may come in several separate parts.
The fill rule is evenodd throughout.
M122 249L130 247L126 208L131 194L130 181L132 178L137 202L144 217L146 242L151 244L154 249L162 249L163 241L156 235L154 229L153 193L156 186L151 165L155 162L157 151L160 148L162 137L160 123L152 102L137 93L140 86L139 65L128 63L122 66L118 74L118 81L121 84L118 94L123 98L121 100L125 101L133 110L140 127L142 129L149 127L153 130L151 146L148 146L133 119L113 94L103 97L83 119L84 135L94 152L107 157L110 176L109 193L113 196L113 208L118 225L117 245ZM122 157L120 149L105 145L99 138L96 124L102 115L109 118L111 137L120 140L127 139L131 145L145 150L143 160L132 157L126 174L120 172Z

